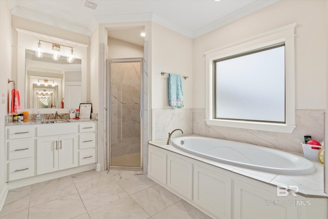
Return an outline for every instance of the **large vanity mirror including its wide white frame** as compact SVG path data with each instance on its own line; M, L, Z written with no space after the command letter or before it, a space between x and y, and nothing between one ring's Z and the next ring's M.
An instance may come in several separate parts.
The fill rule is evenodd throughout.
M90 86L88 45L18 28L16 31L17 51L14 54L17 54L16 87L20 93L20 111L49 113L55 108L64 113L86 103ZM43 44L42 58L35 56L40 41ZM53 44L61 45L60 58L56 61L52 59ZM75 60L68 63L71 49Z

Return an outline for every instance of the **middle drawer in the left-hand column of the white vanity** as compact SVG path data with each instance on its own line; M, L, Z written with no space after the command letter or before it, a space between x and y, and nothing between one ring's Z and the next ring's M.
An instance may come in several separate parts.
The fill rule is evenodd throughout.
M8 143L8 160L34 156L34 139Z

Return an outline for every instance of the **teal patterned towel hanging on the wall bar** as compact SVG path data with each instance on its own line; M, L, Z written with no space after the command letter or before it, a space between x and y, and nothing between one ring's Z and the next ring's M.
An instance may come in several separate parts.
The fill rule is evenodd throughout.
M182 75L169 74L169 106L183 107Z

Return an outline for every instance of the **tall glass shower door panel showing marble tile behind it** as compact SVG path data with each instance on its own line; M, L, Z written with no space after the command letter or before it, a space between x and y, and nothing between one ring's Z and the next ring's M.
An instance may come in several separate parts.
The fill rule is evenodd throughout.
M141 166L141 61L110 61L110 166Z

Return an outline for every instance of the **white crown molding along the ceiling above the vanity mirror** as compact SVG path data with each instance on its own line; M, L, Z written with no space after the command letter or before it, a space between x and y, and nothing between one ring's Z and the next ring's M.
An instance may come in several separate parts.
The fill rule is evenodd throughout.
M73 31L73 32L77 32L77 33L81 33L81 34L85 34L85 35L91 35L91 32L88 27L79 26L79 25L69 23L66 21L60 21L56 17L50 17L45 14L37 13L35 11L28 10L28 9L25 9L25 8L22 8L19 6L13 8L11 10L11 14L15 15L15 16L19 16L19 17L24 17L24 18L30 19L35 22L42 21L43 24L63 28L65 30L69 30L69 31Z

